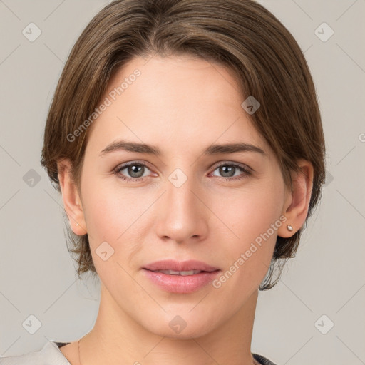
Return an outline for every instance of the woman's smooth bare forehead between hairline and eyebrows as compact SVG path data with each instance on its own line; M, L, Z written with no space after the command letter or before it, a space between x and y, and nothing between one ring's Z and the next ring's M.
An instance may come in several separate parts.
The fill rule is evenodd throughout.
M106 98L109 106L89 138L98 148L123 138L164 143L176 153L239 141L267 150L241 106L235 76L216 63L189 56L134 58L110 79L101 102Z

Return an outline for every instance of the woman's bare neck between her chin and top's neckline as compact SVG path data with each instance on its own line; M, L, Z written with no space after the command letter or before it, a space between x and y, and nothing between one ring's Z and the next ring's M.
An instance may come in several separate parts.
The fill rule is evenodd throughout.
M80 341L81 365L252 365L251 340L258 291L230 319L203 336L159 336L135 322L101 284L93 329Z

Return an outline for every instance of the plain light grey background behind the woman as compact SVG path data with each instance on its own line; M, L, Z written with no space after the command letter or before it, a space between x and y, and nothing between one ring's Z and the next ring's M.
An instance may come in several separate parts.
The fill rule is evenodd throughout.
M74 341L96 319L98 285L77 280L61 197L39 160L63 64L108 2L0 0L0 356L38 350L46 339ZM297 257L274 289L259 293L252 351L278 365L365 364L365 0L260 2L305 51L329 180ZM22 34L31 22L41 29L33 42ZM327 41L319 38L330 34L324 22L334 31ZM34 186L31 169L41 179ZM35 334L24 324L31 314L41 322Z

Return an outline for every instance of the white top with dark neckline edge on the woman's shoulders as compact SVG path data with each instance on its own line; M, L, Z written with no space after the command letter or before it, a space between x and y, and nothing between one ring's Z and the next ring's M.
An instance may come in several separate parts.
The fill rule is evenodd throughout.
M59 349L69 343L50 340L39 351L19 356L0 357L0 365L71 365ZM252 354L252 356L259 361L259 364L275 365L262 355Z

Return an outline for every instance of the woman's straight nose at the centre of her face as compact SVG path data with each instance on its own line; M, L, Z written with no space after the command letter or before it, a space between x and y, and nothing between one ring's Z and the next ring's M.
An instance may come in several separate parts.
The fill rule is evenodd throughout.
M178 176L177 179L174 178ZM166 242L199 242L207 237L210 210L205 205L207 197L202 187L190 176L170 175L165 193L155 207L155 229L158 237ZM184 179L183 185L176 183ZM181 183L181 181L180 181Z

